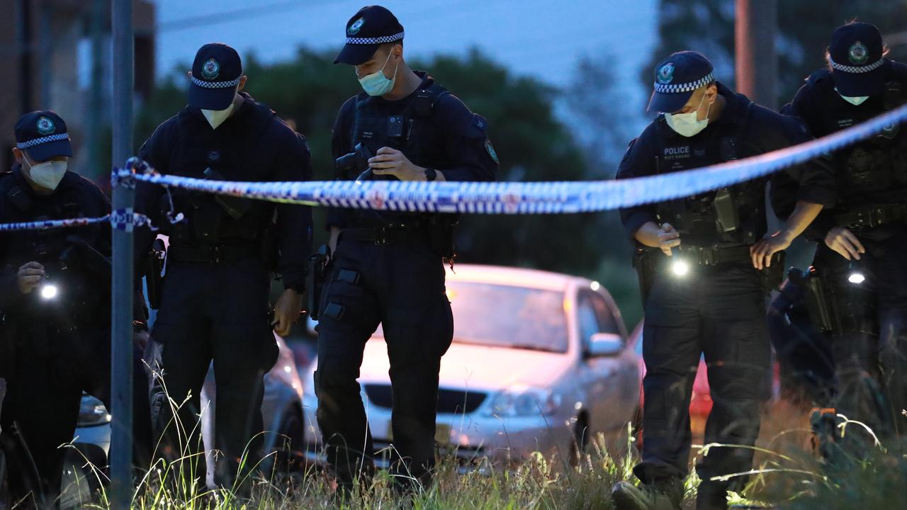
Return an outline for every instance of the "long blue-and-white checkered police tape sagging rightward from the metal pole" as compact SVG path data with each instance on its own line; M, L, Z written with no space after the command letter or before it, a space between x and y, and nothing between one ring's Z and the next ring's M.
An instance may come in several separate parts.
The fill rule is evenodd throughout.
M751 181L891 132L907 119L907 105L820 139L683 172L619 181L414 182L414 181L208 181L136 173L161 186L284 203L378 211L482 214L565 214L608 211L669 201ZM130 172L130 171L123 171ZM120 173L119 178L125 174Z

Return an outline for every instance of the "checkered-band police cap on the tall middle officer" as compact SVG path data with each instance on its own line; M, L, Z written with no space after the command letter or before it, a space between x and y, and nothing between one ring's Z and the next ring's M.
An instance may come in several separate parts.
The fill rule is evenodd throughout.
M334 64L365 64L380 44L402 41L403 36L403 25L394 13L381 5L363 7L346 22L346 44Z

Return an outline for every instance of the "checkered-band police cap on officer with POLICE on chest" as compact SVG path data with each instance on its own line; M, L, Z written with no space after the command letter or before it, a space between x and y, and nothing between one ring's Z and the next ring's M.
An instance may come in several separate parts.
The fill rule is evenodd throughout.
M655 91L649 112L673 113L687 104L693 91L715 81L715 68L697 52L671 54L655 67Z

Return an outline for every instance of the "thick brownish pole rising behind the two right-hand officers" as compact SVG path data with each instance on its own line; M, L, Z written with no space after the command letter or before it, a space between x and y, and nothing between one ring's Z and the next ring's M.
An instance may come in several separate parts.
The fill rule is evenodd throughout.
M736 0L736 89L772 109L777 108L777 11L777 0Z

